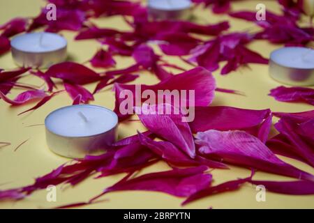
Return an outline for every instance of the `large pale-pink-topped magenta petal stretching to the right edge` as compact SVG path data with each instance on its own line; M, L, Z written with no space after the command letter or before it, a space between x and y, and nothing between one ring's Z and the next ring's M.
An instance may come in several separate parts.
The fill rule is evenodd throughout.
M262 171L314 181L314 176L280 160L260 139L244 131L197 132L200 153L225 162Z

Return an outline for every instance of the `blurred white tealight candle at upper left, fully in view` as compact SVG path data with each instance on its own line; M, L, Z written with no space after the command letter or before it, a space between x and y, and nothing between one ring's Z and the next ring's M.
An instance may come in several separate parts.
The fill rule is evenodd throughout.
M48 68L66 60L67 41L56 33L26 33L11 40L15 63L22 67Z

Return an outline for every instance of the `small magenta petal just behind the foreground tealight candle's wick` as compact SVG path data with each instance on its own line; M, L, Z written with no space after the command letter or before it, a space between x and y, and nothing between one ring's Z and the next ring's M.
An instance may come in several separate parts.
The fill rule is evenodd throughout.
M93 95L78 84L64 83L64 88L73 99L73 105L79 105L80 103L87 104L89 100L94 100Z

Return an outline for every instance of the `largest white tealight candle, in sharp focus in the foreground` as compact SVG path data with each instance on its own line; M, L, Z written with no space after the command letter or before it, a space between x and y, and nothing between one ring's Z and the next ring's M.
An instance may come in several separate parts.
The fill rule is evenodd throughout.
M47 145L65 157L99 155L116 140L117 124L117 114L105 107L62 107L45 118Z

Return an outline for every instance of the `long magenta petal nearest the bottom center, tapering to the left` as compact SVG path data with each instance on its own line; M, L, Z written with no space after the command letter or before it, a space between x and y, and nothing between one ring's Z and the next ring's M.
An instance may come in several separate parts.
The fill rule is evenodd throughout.
M204 174L207 167L174 169L136 178L123 179L105 189L105 193L123 190L147 190L164 192L177 197L188 197L211 183L211 174Z

